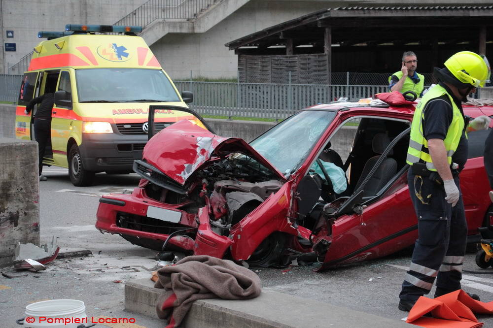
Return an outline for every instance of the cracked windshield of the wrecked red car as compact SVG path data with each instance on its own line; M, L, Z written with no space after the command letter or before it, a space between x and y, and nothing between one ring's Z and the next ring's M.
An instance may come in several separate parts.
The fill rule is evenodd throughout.
M335 117L335 112L307 110L282 121L250 145L284 176L296 170Z

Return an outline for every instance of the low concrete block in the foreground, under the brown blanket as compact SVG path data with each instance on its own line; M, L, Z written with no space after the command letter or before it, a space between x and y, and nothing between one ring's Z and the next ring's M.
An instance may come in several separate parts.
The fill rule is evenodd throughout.
M125 284L125 310L151 317L156 315L157 297L161 289L150 279L138 279ZM164 321L163 321L164 323ZM413 327L400 320L263 290L257 298L246 300L203 299L193 302L183 327Z

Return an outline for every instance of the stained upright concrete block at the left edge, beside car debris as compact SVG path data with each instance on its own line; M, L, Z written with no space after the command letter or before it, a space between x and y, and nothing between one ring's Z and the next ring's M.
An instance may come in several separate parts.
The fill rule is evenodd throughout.
M0 266L19 242L39 245L37 143L0 137Z

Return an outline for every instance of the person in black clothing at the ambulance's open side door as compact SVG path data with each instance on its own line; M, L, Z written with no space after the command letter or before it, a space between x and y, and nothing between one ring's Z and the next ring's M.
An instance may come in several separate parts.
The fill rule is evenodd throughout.
M24 113L29 115L33 110L36 103L40 105L37 107L37 111L34 115L34 136L38 143L38 159L39 159L39 181L47 180L43 171L43 157L46 149L46 144L49 142L51 136L51 111L53 109L54 94L46 92L42 96L36 97L31 100Z

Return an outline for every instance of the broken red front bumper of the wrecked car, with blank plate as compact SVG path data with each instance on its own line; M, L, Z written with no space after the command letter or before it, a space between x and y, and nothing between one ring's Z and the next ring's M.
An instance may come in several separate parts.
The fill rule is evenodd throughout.
M96 228L102 232L118 233L120 235L133 236L140 239L147 240L148 242L162 241L166 242L167 247L165 249L176 248L185 253L193 255L209 255L217 258L222 258L233 243L233 241L226 237L221 236L211 230L209 224L209 209L202 207L199 209L198 214L190 214L182 210L178 210L176 207L169 206L157 201L153 201L149 198L141 197L141 190L136 188L132 195L108 195L100 198L100 204L97 212ZM149 211L149 206L152 206L153 211L162 209L162 213L167 211L173 211L179 213L179 222L176 222L175 216L170 218L170 221L164 221L165 218L156 219L155 213ZM157 208L158 210L155 210ZM171 213L171 212L169 212ZM149 217L148 214L154 216ZM124 222L124 218L138 218L143 225L128 224ZM199 223L196 222L196 217ZM158 221L156 221L158 220ZM163 228L160 232L153 232L149 226L155 224L162 225ZM195 238L183 236L185 230L196 230ZM159 230L159 229L158 229ZM182 235L176 233L176 231L183 230Z

